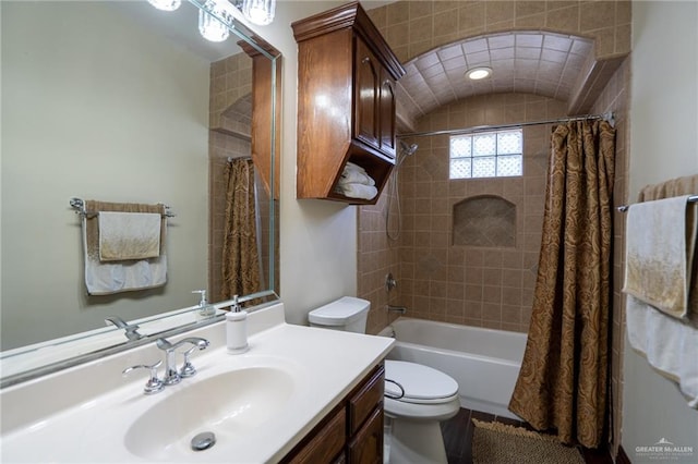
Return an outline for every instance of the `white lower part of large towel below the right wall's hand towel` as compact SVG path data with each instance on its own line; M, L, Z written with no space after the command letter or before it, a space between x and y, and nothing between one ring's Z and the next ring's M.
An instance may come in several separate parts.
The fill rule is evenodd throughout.
M698 408L698 330L633 295L627 295L626 325L630 345Z

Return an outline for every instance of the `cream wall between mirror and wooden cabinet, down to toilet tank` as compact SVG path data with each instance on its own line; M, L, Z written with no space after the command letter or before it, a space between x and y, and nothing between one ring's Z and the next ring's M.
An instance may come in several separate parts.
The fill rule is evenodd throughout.
M290 24L333 1L280 1L270 26L254 29L284 56L281 124L280 293L286 318L308 323L308 313L357 294L357 211L326 200L296 199L298 47Z

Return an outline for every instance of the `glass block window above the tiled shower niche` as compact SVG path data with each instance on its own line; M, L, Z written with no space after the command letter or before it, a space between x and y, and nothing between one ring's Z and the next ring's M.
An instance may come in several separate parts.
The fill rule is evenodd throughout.
M450 137L450 179L510 178L524 174L521 129Z

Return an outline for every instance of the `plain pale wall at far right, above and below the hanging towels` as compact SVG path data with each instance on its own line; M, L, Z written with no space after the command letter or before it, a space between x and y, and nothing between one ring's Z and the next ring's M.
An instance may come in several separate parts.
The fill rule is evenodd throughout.
M633 3L631 74L634 200L646 184L698 173L698 3ZM665 438L693 447L684 462L696 462L698 411L627 343L623 361L623 448L630 461L650 462L636 447Z

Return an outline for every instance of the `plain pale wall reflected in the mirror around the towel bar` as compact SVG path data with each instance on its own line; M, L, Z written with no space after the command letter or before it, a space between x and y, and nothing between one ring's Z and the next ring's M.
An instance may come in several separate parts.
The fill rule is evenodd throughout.
M2 15L3 347L195 303L189 291L206 288L208 62L101 2L2 2ZM73 196L172 207L163 291L85 296Z

